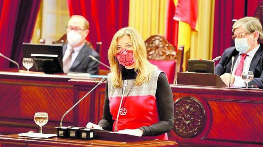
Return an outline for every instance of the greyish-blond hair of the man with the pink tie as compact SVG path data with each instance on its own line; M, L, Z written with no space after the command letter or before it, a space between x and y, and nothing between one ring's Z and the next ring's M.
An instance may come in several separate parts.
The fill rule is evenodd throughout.
M244 17L237 20L233 26L232 31L234 32L236 28L243 26L245 31L249 34L254 33L255 31L259 31L258 43L262 42L263 34L262 34L262 25L258 18L255 17Z

